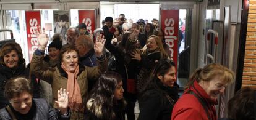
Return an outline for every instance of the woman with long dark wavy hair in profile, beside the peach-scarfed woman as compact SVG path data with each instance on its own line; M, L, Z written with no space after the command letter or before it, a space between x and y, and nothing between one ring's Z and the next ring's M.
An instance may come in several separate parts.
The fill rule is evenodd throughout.
M88 97L85 120L124 120L123 93L120 74L102 74Z

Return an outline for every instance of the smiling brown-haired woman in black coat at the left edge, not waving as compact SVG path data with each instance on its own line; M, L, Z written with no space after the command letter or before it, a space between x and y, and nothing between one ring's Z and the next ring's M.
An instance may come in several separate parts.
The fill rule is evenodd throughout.
M22 49L19 44L9 42L4 44L0 50L0 108L9 104L9 100L4 97L4 86L6 82L17 76L25 76L29 78L29 69L25 66L25 59L23 59ZM39 84L32 76L33 96L40 97Z

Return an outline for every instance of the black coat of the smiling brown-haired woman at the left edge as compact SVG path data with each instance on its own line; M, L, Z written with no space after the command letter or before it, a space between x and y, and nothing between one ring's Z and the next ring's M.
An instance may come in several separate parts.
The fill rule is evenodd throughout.
M5 65L0 65L0 108L3 108L6 105L9 105L9 100L4 97L4 86L6 82L13 77L23 76L25 78L29 78L29 69L25 66L25 60L22 59L22 63L12 70L11 68L7 68ZM39 84L36 82L35 76L31 77L31 82L33 86L33 97L40 98L40 88Z

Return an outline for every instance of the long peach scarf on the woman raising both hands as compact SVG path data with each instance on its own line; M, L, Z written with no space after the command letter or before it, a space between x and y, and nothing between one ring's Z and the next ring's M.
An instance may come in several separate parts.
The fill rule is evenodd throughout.
M69 108L73 111L83 112L83 102L80 92L79 84L77 84L77 75L79 73L79 66L75 68L75 73L67 71L64 65L61 65L67 73L67 92L69 92Z

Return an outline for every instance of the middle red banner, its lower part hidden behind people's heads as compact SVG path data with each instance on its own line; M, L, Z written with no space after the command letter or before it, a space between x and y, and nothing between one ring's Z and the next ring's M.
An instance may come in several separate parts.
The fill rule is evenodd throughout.
M95 10L79 10L80 23L85 23L87 31L92 34L95 30Z

